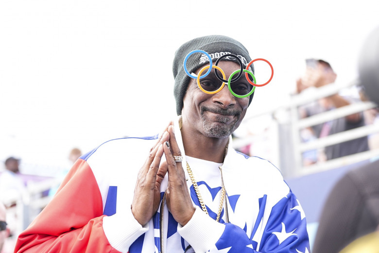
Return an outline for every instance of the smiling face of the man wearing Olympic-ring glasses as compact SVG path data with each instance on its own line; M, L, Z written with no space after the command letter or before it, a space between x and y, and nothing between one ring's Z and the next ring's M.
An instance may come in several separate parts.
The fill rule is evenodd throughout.
M226 80L232 72L241 68L232 61L220 61L218 66L225 72ZM195 73L198 74L203 67ZM213 70L205 78L200 79L200 82L220 82ZM205 72L207 70L202 74ZM248 84L244 74L237 82ZM191 78L183 98L183 125L186 124L186 127L199 131L207 137L226 138L240 126L248 105L249 97L233 96L226 84L216 94L207 94L199 89L196 79Z

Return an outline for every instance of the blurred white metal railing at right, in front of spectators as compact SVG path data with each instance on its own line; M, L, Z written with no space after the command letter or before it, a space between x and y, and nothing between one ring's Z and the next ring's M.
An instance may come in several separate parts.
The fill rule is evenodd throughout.
M279 150L280 167L286 177L300 176L304 174L316 173L326 169L341 167L344 165L357 163L370 159L379 155L379 150L369 150L358 154L319 162L316 164L303 166L302 152L317 148L323 148L328 145L343 143L349 140L354 140L360 137L368 136L373 133L379 133L379 125L368 125L364 127L354 128L341 133L332 134L323 138L319 138L307 143L302 143L300 140L300 130L305 127L322 124L330 120L345 117L347 115L362 112L364 110L375 108L376 105L372 102L357 102L345 107L336 108L330 111L319 113L304 119L299 119L298 107L338 93L340 90L358 85L358 81L353 81L346 84L330 84L312 92L304 92L293 95L291 100L284 105L276 105L275 107L265 110L256 111L252 116L246 118L243 124L255 122L255 119L262 115L271 115L276 120L279 126L288 126L287 131L279 133L277 138L277 146L281 146ZM280 116L283 114L284 116ZM237 139L233 142L235 148L242 147L253 141L254 137L246 139ZM279 141L281 140L281 141ZM283 143L283 140L284 143Z

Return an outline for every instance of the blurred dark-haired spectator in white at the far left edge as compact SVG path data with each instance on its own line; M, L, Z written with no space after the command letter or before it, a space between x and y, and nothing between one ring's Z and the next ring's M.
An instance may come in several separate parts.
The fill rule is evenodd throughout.
M9 157L5 160L5 171L0 175L0 200L19 197L25 190L20 177L19 159Z

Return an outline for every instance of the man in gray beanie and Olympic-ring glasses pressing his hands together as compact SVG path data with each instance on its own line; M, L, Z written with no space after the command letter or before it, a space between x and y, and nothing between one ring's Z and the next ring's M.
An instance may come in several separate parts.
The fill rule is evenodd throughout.
M226 36L182 45L173 61L178 121L159 137L113 140L82 156L16 252L309 252L304 212L280 172L232 148L253 95L232 95L214 72L197 85L183 68L193 50L213 65L226 53L243 67L251 60ZM223 79L240 69L235 60L219 62ZM207 65L193 54L185 67L197 77ZM233 84L246 87L243 75Z

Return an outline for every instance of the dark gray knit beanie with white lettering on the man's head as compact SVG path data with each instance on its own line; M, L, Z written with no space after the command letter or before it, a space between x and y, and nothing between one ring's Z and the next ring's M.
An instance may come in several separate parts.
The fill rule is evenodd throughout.
M176 100L176 113L182 114L183 97L186 94L190 77L186 74L183 68L184 58L193 50L203 50L207 52L212 58L212 62L216 62L217 58L224 54L236 54L242 61L243 67L246 68L247 64L251 61L249 52L247 49L237 40L222 36L222 35L210 35L192 39L184 43L176 52L172 63L172 72L175 78L174 84L174 97ZM223 60L235 61L233 58L225 57ZM194 72L198 68L209 63L209 59L205 54L192 54L187 60L188 71ZM250 71L254 73L253 64L250 67ZM253 99L254 92L249 98L249 105Z

